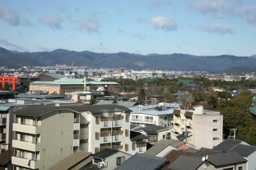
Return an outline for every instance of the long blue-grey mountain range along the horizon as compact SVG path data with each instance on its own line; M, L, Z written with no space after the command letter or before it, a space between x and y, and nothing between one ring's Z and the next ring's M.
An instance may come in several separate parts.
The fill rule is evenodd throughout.
M235 55L196 56L189 54L93 53L90 51L53 50L51 52L9 51L0 47L0 66L89 66L94 68L126 68L135 70L206 71L219 72L230 68L256 70L256 55L238 57ZM247 69L247 70L248 70Z

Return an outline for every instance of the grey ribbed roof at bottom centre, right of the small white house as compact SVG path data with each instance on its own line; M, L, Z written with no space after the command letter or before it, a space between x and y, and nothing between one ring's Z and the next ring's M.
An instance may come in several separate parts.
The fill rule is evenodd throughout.
M140 169L140 170L154 170L167 164L166 158L159 158L156 156L144 155L136 153L120 166L117 166L115 170L127 170L127 169Z

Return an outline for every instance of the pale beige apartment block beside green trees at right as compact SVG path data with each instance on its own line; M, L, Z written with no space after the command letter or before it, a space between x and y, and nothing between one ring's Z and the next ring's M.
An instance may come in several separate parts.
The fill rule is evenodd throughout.
M181 106L173 111L173 132L184 134L187 143L197 148L213 148L222 142L223 115L203 106ZM187 134L187 135L186 135Z

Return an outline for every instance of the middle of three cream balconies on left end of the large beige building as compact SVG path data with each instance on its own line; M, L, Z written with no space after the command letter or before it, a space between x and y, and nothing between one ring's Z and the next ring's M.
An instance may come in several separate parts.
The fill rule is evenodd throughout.
M26 142L20 140L12 140L12 147L16 147L22 150L39 151L41 146L38 142Z

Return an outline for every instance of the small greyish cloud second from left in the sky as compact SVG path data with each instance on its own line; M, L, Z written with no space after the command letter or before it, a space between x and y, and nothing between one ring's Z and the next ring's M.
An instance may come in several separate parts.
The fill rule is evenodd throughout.
M44 24L45 26L49 26L50 28L55 29L62 29L61 22L63 22L62 18L58 15L48 16L39 19L39 23Z

